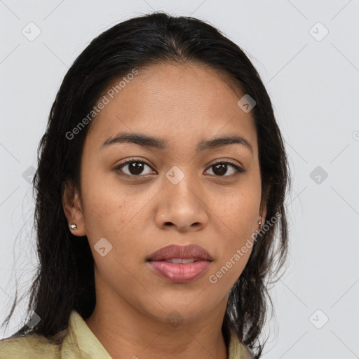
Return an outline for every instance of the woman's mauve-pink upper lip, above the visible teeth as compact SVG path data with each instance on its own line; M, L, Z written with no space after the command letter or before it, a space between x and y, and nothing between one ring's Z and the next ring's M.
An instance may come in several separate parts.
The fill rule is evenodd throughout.
M201 248L199 245L168 245L160 250L152 253L148 257L148 261L163 261L173 258L182 259L201 259L205 261L212 261L210 254Z

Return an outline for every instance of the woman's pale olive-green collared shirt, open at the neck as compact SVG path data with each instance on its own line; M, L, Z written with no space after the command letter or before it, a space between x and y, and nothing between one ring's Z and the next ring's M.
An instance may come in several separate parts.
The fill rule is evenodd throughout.
M87 326L73 310L67 330L55 335L62 344L54 344L39 334L27 334L0 340L0 359L111 359ZM248 348L241 344L235 332L229 341L229 359L252 359Z

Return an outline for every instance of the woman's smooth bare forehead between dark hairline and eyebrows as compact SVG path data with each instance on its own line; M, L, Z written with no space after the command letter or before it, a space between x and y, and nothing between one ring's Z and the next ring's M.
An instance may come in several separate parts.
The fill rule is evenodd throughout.
M108 89L116 88L123 77ZM113 98L104 92L109 102L91 123L91 142L100 145L107 137L126 131L158 135L183 146L197 144L198 137L233 133L246 137L256 151L253 118L237 104L244 93L215 69L165 63L138 69L130 78L122 81L121 90L117 87L118 93L112 90Z

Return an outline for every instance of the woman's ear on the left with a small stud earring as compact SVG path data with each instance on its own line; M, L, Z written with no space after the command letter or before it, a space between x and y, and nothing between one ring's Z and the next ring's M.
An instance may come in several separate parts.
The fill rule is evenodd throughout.
M86 236L79 191L74 184L68 180L62 184L62 208L69 224L69 231L71 231L74 236ZM72 229L70 227L71 224L76 224L77 229Z

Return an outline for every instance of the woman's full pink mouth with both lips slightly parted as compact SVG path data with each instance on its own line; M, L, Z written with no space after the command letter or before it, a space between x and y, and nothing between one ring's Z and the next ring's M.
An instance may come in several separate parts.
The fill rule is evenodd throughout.
M198 245L170 245L147 258L157 276L172 283L196 280L207 271L212 257Z

